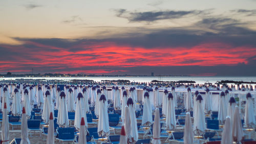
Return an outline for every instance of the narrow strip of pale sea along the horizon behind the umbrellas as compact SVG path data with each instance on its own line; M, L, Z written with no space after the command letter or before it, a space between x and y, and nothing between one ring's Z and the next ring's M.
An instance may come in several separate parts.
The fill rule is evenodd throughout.
M151 82L152 80L158 81L195 81L199 84L216 83L221 80L243 81L243 82L256 82L255 77L25 77L25 78L0 78L0 80L15 80L15 79L46 79L46 80L93 80L100 82L101 80L129 80L131 82Z

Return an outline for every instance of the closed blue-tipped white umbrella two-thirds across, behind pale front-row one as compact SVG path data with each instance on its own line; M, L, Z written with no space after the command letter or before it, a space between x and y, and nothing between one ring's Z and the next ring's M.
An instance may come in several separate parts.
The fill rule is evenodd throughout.
M166 118L165 124L167 130L175 130L176 129L176 116L175 116L175 104L173 94L169 93L167 97L167 111L166 111Z

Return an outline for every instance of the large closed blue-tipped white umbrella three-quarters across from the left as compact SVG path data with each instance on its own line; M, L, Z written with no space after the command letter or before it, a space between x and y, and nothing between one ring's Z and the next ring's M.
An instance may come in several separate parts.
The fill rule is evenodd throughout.
M201 103L203 101L202 96L199 94L197 96L197 102L196 102L196 113L195 113L195 117L194 117L194 134L195 135L202 135L205 130L206 130L206 126L205 126L205 116L204 116L204 106Z

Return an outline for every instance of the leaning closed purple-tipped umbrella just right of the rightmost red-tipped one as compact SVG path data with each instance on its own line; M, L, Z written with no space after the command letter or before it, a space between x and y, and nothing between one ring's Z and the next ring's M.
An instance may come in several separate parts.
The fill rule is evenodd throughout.
M133 139L133 143L138 141L138 129L137 129L137 121L136 121L136 115L135 115L135 103L133 103L133 99L129 98L127 100L127 106L129 108L129 114L130 114L130 121L131 121L131 137ZM126 115L126 113L125 113Z

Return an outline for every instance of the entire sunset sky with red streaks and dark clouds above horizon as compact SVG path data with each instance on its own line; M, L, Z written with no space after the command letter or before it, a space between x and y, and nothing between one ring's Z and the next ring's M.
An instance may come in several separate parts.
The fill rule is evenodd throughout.
M0 73L256 76L256 1L0 1Z

